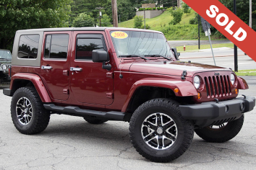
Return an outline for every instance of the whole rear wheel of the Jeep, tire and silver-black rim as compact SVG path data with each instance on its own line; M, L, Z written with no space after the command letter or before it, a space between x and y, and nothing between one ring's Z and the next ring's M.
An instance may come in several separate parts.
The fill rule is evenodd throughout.
M22 87L15 91L11 115L15 128L26 135L42 132L50 120L50 114L43 107L34 87Z

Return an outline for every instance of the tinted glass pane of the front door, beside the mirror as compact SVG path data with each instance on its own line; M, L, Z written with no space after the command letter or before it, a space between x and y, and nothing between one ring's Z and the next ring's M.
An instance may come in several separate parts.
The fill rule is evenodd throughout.
M93 50L104 50L101 38L79 38L77 36L77 60L92 60Z

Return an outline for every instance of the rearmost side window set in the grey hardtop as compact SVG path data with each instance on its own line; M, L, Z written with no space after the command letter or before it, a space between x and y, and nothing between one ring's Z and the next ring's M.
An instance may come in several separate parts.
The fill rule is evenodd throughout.
M39 35L21 35L18 58L37 58Z

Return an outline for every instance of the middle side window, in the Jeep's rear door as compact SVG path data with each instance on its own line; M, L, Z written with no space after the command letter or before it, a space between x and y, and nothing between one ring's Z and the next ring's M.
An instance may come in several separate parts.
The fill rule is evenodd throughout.
M66 59L69 35L46 35L44 58Z

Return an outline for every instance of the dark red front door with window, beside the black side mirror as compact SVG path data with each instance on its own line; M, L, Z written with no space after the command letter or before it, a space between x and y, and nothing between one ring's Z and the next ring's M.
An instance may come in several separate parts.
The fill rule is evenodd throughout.
M105 32L74 32L70 61L70 90L77 102L109 105L113 102L112 73L93 63L93 50L108 51Z

